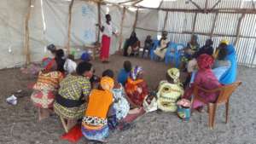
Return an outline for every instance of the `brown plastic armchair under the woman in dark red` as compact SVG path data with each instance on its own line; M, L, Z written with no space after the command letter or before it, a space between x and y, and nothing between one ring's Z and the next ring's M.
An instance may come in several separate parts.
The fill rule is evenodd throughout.
M197 85L195 85L194 91L193 91L193 98L192 98L192 105L195 100L201 101L205 104L207 104L209 117L208 117L208 126L213 129L214 127L214 120L215 120L215 113L219 105L225 104L226 106L226 119L225 123L227 124L229 121L229 107L230 107L230 95L236 90L236 88L241 85L241 82L236 82L229 85L221 86L218 89L203 89ZM199 90L204 91L206 93L215 93L219 92L218 99L214 103L207 103L204 99L201 98L200 95L198 95Z

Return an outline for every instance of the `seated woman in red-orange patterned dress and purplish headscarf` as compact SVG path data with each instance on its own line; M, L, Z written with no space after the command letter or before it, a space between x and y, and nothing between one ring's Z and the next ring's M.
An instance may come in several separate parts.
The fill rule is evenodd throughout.
M125 84L125 92L131 107L143 107L143 100L148 95L148 85L143 79L143 68L135 66Z

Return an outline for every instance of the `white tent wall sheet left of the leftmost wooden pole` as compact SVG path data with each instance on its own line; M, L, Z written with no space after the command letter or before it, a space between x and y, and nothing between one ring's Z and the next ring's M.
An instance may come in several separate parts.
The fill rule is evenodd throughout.
M2 0L0 4L0 69L25 62L24 21L29 3L24 0Z

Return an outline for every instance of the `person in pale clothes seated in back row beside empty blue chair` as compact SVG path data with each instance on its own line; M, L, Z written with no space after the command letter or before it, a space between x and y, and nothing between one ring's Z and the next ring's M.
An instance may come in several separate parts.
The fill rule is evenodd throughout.
M167 39L167 32L162 32L162 37L160 39L160 45L154 50L154 55L157 55L160 57L161 60L165 59L166 56L166 50L168 47L168 39Z

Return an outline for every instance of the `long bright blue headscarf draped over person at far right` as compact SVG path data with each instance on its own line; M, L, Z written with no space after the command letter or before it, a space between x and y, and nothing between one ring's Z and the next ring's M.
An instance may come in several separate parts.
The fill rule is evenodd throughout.
M225 60L230 60L231 66L230 69L220 78L219 82L221 84L232 84L236 81L237 73L236 50L233 45L228 45L226 49L228 55L226 56Z

